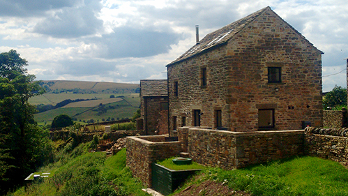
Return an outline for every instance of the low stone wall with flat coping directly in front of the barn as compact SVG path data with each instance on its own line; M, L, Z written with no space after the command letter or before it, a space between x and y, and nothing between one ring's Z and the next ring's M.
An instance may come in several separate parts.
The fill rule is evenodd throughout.
M181 135L187 134L185 136ZM303 130L230 132L179 128L188 153L197 163L233 169L303 154Z

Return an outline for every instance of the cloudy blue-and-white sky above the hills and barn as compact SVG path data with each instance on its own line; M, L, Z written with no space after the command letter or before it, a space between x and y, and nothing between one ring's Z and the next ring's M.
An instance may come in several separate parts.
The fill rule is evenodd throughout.
M0 52L37 80L139 83L199 38L270 6L323 51L323 91L346 87L347 0L0 0Z

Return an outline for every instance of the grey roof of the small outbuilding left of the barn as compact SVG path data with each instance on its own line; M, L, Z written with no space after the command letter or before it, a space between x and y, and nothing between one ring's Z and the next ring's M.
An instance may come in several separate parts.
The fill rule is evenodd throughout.
M140 80L141 96L168 96L167 80Z

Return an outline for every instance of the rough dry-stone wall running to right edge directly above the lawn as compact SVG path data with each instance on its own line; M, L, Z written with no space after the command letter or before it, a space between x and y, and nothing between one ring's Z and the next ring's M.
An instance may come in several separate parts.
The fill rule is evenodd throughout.
M331 159L348 167L348 137L305 134L305 153Z

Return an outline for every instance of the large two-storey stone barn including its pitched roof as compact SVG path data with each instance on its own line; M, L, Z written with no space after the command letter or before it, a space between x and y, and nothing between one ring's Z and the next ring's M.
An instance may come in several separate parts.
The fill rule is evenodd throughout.
M167 65L169 130L217 128L218 112L232 131L321 126L321 54L269 7L218 29ZM280 81L268 81L269 68Z

